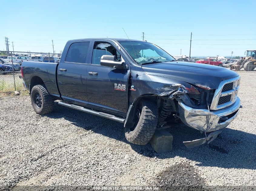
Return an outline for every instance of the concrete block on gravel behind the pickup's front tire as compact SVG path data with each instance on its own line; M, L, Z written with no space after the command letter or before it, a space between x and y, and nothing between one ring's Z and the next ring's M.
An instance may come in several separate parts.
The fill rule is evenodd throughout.
M171 133L163 129L156 131L149 143L157 153L164 153L172 150L172 140Z

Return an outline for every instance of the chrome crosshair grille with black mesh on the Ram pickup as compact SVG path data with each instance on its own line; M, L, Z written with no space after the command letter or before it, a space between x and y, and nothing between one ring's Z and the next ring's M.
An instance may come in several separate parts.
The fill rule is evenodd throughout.
M232 105L237 100L239 84L240 76L222 81L214 93L210 109L219 110Z

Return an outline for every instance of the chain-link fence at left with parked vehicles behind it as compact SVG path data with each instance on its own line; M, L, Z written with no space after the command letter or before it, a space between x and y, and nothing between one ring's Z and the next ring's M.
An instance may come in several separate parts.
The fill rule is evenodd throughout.
M25 90L21 76L24 61L58 62L61 54L0 51L0 97Z

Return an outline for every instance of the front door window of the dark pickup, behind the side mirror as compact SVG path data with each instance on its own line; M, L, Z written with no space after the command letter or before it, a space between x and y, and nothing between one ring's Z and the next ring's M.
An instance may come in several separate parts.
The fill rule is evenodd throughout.
M109 43L96 42L93 47L91 63L100 65L101 56L103 55L114 55L116 56L117 61L121 60L121 55L114 48L114 46Z

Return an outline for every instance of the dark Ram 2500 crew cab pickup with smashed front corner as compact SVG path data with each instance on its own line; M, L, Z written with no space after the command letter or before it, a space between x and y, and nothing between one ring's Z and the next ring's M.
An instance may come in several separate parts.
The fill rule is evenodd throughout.
M240 108L238 73L178 62L139 40L70 40L59 63L25 61L21 73L36 113L50 113L60 100L61 106L124 123L126 139L138 145L179 123L204 132L185 146L211 142Z

